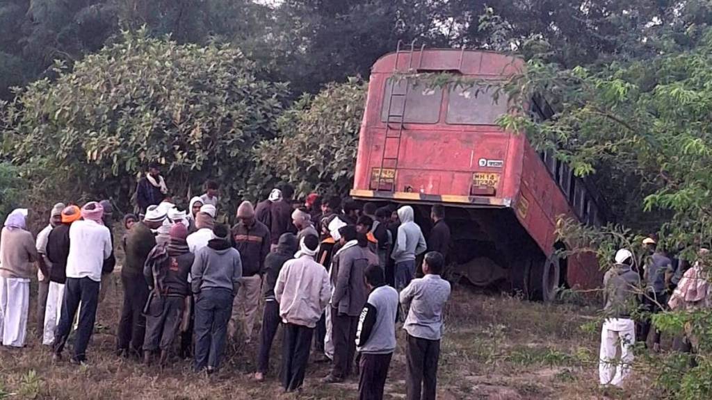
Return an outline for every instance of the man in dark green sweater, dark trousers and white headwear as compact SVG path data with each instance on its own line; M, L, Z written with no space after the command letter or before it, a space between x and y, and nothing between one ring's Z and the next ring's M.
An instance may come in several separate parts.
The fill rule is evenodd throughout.
M126 260L121 268L124 287L124 304L117 332L117 354L141 357L146 333L143 309L148 301L149 289L143 275L148 253L156 246L151 229L163 224L166 214L158 206L149 206L143 221L135 223L126 236Z

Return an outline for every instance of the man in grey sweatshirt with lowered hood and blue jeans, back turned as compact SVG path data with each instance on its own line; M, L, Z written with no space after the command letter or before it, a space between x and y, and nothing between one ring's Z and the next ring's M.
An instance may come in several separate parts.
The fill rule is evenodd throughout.
M195 253L191 268L195 298L196 371L208 374L220 368L225 350L227 325L233 299L239 293L242 278L240 253L231 246L230 231L216 225L214 239Z

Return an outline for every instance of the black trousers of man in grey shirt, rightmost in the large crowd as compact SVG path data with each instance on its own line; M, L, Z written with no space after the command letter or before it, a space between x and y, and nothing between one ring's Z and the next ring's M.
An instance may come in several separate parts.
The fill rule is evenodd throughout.
M440 341L407 335L406 399L435 400Z

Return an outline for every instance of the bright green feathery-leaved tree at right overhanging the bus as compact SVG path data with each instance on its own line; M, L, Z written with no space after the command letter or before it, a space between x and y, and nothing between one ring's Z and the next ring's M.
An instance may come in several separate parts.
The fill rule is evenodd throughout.
M681 22L683 23L683 22ZM596 69L533 60L528 71L506 89L524 106L533 95L553 100L557 112L544 122L520 113L501 119L508 130L524 131L539 149L554 152L577 174L604 172L602 192L615 199L619 222L630 229L608 226L602 230L573 227L562 221L560 233L577 246L598 248L602 268L612 252L634 243L635 234L654 231L659 246L691 261L709 247L712 238L712 28L689 24L684 36L672 24L651 38L651 47L665 43L670 51L642 59L622 60ZM641 43L640 49L644 49ZM637 241L639 243L639 241ZM656 384L676 399L708 399L712 388L712 332L709 310L671 312L656 317L669 332L689 325L701 340L696 367L666 363L666 377ZM671 357L677 357L676 355ZM661 360L651 360L660 366ZM671 379L671 377L674 377Z

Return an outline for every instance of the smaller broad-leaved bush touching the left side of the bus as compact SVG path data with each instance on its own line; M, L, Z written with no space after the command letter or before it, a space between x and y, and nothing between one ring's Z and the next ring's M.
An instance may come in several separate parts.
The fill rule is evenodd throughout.
M263 177L298 182L298 194L344 194L353 184L366 84L357 78L304 95L279 120L280 133L256 150Z

